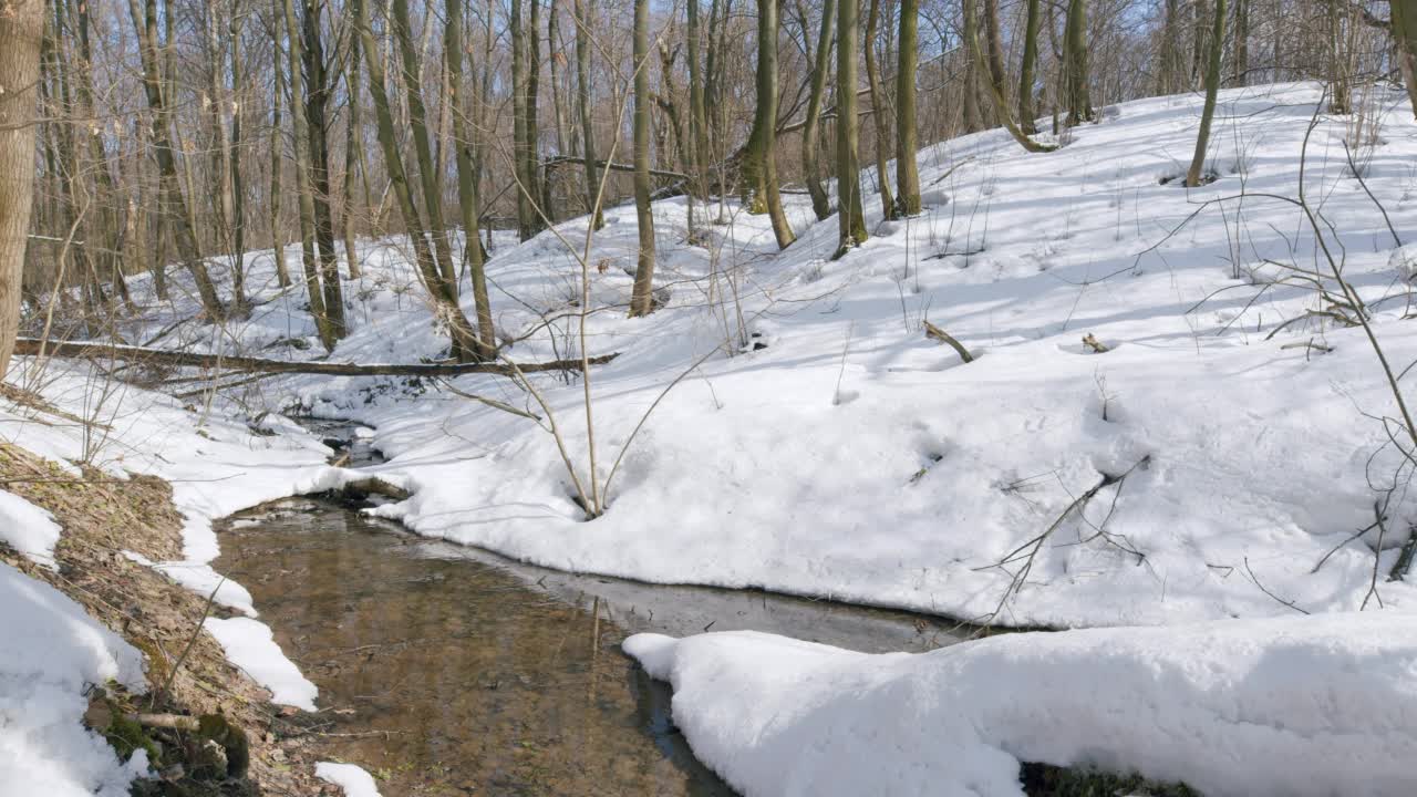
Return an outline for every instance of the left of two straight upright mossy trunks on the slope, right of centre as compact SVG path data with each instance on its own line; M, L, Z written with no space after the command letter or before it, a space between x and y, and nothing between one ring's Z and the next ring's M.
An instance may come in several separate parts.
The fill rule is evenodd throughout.
M968 1L968 0L966 0ZM866 217L862 213L860 166L856 162L856 58L859 6L856 0L836 4L836 211L837 247L842 257L866 243Z

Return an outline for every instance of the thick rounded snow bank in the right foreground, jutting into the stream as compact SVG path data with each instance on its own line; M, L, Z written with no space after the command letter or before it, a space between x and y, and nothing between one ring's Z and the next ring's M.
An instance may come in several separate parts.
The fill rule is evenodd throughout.
M1019 762L1210 797L1417 791L1417 618L1010 634L867 655L751 631L631 637L694 754L748 797L1016 796Z

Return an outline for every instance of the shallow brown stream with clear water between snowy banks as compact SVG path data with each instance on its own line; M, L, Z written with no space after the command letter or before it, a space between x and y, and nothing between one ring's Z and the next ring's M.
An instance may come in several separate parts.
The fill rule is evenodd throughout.
M349 424L310 424L378 461ZM639 631L752 628L869 652L956 641L911 613L762 591L580 576L419 537L333 498L218 526L215 567L254 596L320 689L320 754L385 797L734 794L694 759L669 686L621 650Z

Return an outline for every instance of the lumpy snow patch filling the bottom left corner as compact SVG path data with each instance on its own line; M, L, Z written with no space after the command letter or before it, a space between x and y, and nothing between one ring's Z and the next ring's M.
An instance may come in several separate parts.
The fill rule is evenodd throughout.
M0 796L122 797L147 771L81 723L88 686L142 692L143 658L54 587L0 563Z

